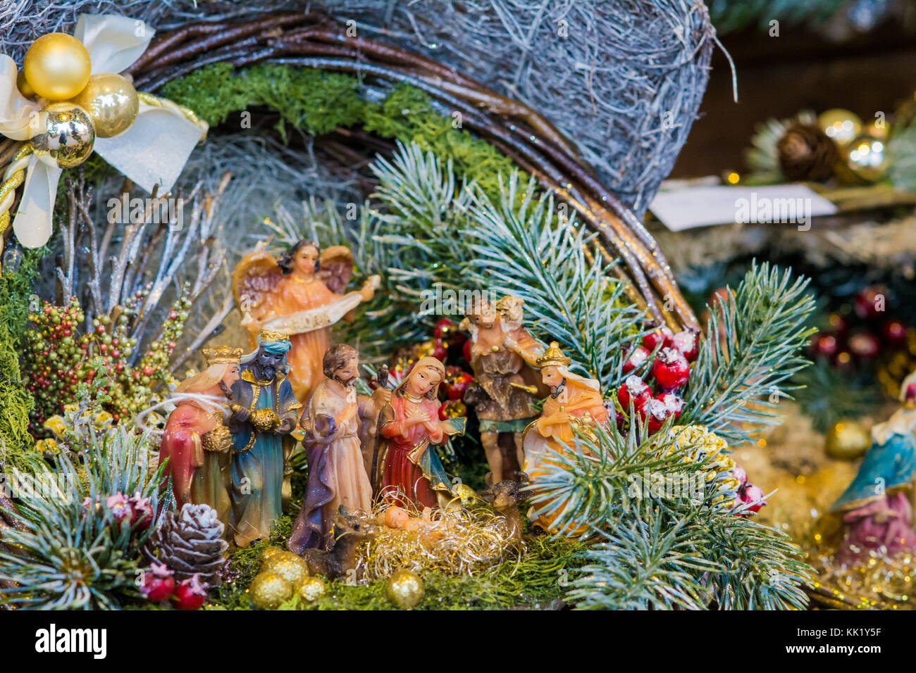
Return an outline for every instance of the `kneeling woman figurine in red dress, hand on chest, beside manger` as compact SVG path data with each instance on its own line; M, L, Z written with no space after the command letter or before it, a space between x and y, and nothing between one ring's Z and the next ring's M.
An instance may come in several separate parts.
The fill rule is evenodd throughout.
M463 435L467 418L439 419L439 385L445 365L423 357L411 367L379 418L373 472L376 496L419 512L453 499L448 475L435 444Z

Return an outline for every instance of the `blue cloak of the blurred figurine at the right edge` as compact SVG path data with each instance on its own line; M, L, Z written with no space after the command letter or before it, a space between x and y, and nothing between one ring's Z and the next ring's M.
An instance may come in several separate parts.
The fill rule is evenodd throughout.
M856 478L831 507L832 512L856 509L908 486L916 469L916 436L895 433L883 443L872 443Z

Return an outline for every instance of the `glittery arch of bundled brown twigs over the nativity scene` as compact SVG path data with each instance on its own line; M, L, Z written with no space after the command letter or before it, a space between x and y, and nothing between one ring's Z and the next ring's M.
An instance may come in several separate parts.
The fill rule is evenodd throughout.
M595 177L574 143L528 105L409 49L348 37L344 27L320 13L283 13L181 27L158 36L131 72L138 86L156 91L216 62L236 68L275 62L345 71L380 81L405 82L428 93L460 112L466 127L487 138L534 175L542 187L554 190L581 214L583 222L622 260L629 282L642 299L638 304L645 306L654 320L667 322L674 329L699 329L699 321L683 299L655 239ZM344 148L328 149L346 160Z

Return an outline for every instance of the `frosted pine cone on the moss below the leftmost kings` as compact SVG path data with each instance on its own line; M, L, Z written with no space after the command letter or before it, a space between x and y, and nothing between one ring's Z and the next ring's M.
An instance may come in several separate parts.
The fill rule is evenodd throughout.
M218 587L224 554L229 548L223 533L223 522L213 507L189 503L180 512L166 512L162 526L149 538L147 558L169 566L177 581L200 573L201 581Z

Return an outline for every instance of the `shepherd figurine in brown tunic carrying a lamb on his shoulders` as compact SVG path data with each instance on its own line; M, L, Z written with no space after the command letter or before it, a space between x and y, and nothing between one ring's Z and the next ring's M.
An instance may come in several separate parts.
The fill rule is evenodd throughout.
M534 403L540 390L535 360L543 346L521 326L521 299L504 297L493 305L485 296L474 301L462 321L471 332L471 369L475 385L464 401L480 420L490 473L487 483L518 479L524 461L522 433L535 418Z

